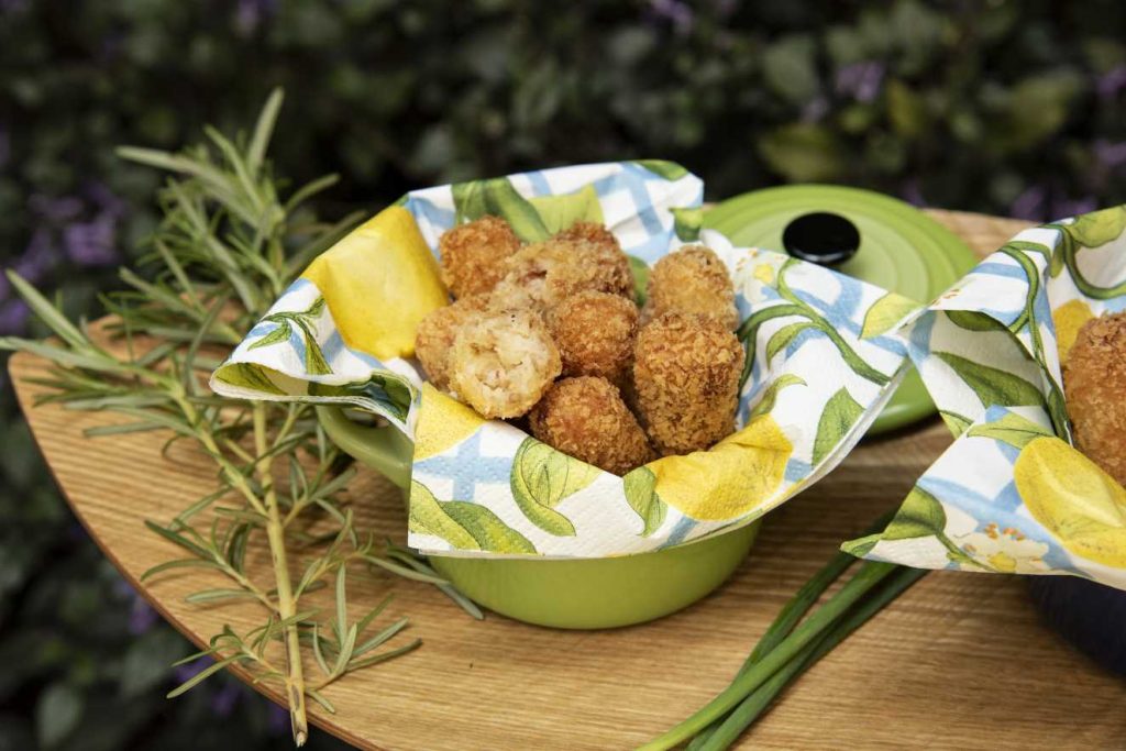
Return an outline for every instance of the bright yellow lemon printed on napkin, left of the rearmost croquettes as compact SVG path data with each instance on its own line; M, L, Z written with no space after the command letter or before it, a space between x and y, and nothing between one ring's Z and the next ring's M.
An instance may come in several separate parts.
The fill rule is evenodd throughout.
M414 354L414 330L449 301L418 224L385 208L310 263L345 343L381 360Z

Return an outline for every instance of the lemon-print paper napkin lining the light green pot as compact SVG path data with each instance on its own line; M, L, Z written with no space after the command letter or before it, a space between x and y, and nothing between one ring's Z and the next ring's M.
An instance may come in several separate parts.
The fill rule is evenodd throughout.
M616 162L408 194L318 258L220 367L245 399L356 406L413 440L409 543L466 556L602 557L654 551L758 519L834 467L903 375L895 334L921 306L701 230L704 186L678 164ZM711 450L624 477L490 421L425 383L414 329L448 302L441 233L493 214L534 242L605 223L638 278L696 242L723 259L748 348L736 431Z

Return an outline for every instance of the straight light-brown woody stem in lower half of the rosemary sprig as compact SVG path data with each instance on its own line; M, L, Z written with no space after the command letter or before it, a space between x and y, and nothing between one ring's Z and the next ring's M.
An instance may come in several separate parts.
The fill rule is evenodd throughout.
M266 405L254 402L254 446L259 456L265 456L258 465L258 480L266 500L266 536L270 543L270 558L274 561L274 576L277 580L278 616L288 622L297 613L296 598L289 582L289 564L285 548L285 526L278 509L277 492L270 474L270 457L267 455ZM309 721L305 716L305 677L301 664L301 641L297 624L288 623L283 634L286 655L286 699L289 703L289 721L293 740L298 746L309 739Z

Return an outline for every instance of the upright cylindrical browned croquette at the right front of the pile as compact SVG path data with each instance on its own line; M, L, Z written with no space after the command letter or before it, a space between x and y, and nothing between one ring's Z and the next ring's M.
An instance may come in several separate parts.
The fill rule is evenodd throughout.
M642 327L634 388L662 456L704 450L734 431L744 357L735 334L712 318L664 313Z

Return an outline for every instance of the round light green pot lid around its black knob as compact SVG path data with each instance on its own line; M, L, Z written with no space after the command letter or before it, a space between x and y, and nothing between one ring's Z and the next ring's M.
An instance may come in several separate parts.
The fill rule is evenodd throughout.
M730 198L704 215L704 226L736 245L784 251L783 232L805 214L828 212L851 222L860 245L833 269L927 303L962 278L977 259L956 234L896 198L829 185L767 188ZM927 388L913 369L869 429L894 430L935 412Z

